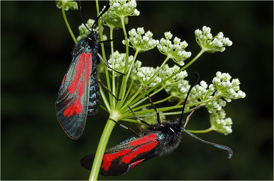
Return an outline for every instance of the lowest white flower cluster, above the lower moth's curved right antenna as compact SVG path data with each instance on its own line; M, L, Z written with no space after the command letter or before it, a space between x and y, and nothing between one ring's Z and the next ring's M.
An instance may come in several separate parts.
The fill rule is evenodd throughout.
M213 111L210 114L209 119L211 128L213 130L215 130L216 132L223 133L224 135L227 135L228 133L232 132L232 119L225 117L226 113L223 109L221 109L220 111Z

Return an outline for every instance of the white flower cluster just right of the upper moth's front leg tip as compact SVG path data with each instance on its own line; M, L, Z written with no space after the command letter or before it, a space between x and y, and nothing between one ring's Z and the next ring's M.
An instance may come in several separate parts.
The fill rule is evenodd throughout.
M148 31L145 33L144 36L142 36L145 33L144 28L137 28L136 30L133 28L128 32L129 39L128 42L132 44L133 49L135 49L138 52L144 52L150 49L153 49L159 44L159 40L152 39L152 32ZM125 45L125 40L123 40L123 44Z

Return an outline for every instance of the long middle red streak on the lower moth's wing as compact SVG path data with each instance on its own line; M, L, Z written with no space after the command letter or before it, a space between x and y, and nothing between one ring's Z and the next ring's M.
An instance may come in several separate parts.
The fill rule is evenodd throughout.
M149 150L153 149L157 145L158 141L154 139L154 141L146 143L142 146L139 146L134 151L128 153L126 156L122 158L122 162L128 164L132 159L134 159L140 153L148 152Z

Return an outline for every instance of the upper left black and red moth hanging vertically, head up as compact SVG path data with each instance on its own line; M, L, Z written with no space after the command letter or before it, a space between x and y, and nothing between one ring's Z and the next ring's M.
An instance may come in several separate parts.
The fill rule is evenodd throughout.
M101 52L100 43L102 42L100 42L100 35L93 31L93 26L110 7L110 5L107 5L104 8L90 31L82 19L80 2L77 1L77 4L80 18L89 34L80 39L74 46L72 62L61 83L55 104L58 121L66 134L72 139L78 139L83 134L87 117L97 113L100 99L100 89L97 83L101 84L101 82L97 80L96 74L100 59L105 63L106 61L99 53ZM112 40L104 42L109 41ZM107 66L110 68L108 64ZM118 73L122 74L121 72ZM117 98L115 97L115 99Z

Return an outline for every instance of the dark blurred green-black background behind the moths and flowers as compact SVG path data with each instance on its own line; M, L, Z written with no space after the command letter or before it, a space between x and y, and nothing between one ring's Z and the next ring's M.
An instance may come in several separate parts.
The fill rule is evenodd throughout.
M100 2L100 8L105 4ZM161 39L170 31L188 42L186 50L192 58L200 51L195 29L206 25L213 35L223 32L232 40L224 52L204 53L187 71L188 80L194 77L191 72L198 71L208 84L217 71L239 78L246 97L225 107L233 132L196 134L229 146L234 154L228 160L225 151L183 133L181 145L169 156L154 157L117 178L98 179L273 180L273 1L141 1L137 9L140 15L129 17L127 32L144 27L154 39ZM82 2L82 10L85 20L96 18L95 2ZM70 10L66 15L77 35L78 12ZM120 35L121 30L114 37ZM100 109L88 119L79 140L69 139L56 119L54 104L73 45L54 1L1 1L1 180L88 179L90 172L79 160L96 151L107 115ZM118 49L125 52L123 45ZM164 58L153 49L137 59L156 67ZM160 97L153 96L157 100ZM208 113L199 109L187 129L208 127ZM129 134L115 126L107 147Z

